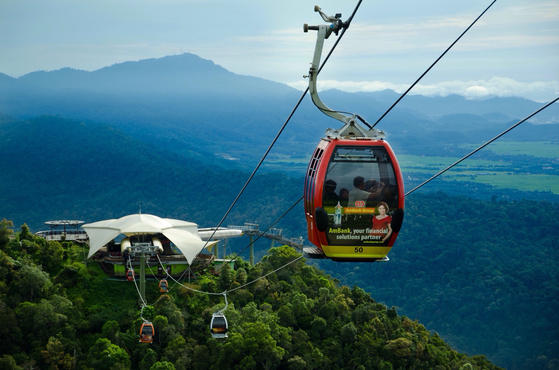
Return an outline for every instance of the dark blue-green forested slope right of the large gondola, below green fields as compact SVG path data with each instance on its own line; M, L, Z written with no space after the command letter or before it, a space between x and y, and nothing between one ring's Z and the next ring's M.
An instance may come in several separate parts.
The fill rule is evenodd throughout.
M317 264L506 368L559 365L559 205L406 198L391 261Z

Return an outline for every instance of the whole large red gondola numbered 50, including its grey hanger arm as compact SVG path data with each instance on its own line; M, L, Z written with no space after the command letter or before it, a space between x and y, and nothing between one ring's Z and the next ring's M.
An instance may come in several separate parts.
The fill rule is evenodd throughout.
M330 258L339 262L387 261L386 254L404 220L404 181L396 155L385 132L373 128L361 116L330 110L319 98L316 77L324 39L347 27L341 14L327 16L330 25L309 26L318 31L309 75L312 102L325 115L343 122L327 129L305 174L305 215L309 241L317 248L304 248L307 258ZM361 121L368 127L356 122Z

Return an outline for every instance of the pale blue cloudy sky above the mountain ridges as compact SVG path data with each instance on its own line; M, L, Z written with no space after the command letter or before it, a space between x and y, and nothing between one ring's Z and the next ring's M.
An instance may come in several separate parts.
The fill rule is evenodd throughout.
M0 72L94 70L190 51L239 74L304 88L313 11L345 19L348 1L4 0ZM489 5L489 0L364 0L321 73L321 88L402 91ZM333 44L326 40L325 50ZM559 95L559 2L498 0L412 93L479 98Z

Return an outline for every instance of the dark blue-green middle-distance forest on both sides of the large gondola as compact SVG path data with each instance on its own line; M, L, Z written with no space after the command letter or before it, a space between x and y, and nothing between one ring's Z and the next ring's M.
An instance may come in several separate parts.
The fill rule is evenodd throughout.
M49 220L92 222L134 214L140 205L145 213L215 226L248 178L219 162L209 168L198 156L169 153L112 127L53 116L27 122L4 117L0 156L6 163L0 172L0 218L27 222L32 231L44 230ZM433 182L423 189L437 186ZM495 189L475 187L488 200L496 195L494 202L409 196L404 232L389 254L391 262L318 266L419 318L456 349L485 354L500 366L546 368L559 358L552 299L557 296L552 283L558 269L556 203L513 203ZM300 197L301 188L299 178L257 175L225 224L257 221L265 229ZM306 237L302 212L301 205L295 207L276 227L287 237ZM247 238L232 239L231 250L247 243ZM256 246L260 258L269 241L258 240ZM418 276L428 278L418 281ZM495 310L487 308L492 305L503 314L494 316ZM526 328L520 335L519 322Z

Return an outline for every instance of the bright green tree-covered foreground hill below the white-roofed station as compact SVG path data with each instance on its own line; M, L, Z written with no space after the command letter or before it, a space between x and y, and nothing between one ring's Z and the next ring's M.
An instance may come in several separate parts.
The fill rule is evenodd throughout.
M484 356L451 349L438 334L398 316L361 288L340 286L304 260L229 295L229 338L211 339L220 295L176 286L143 315L155 340L138 343L141 324L132 282L106 279L72 243L36 238L26 225L11 239L0 226L2 369L499 369ZM239 261L198 290L240 287L299 257L269 250L254 267ZM146 287L149 302L157 282Z

